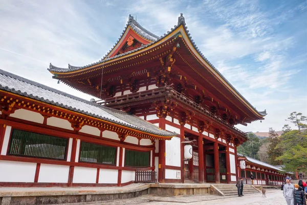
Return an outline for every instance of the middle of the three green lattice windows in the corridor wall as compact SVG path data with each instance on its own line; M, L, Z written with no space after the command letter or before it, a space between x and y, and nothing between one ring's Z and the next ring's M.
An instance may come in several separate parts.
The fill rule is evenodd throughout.
M81 142L80 162L116 165L116 148Z

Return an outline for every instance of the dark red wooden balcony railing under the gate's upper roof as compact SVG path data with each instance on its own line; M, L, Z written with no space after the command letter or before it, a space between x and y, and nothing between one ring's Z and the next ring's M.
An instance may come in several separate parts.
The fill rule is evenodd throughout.
M96 101L96 103L104 106L114 106L114 105L121 105L124 103L132 103L134 101L139 101L142 99L147 99L149 98L157 98L157 97L163 97L166 96L168 98L175 98L179 100L181 103L185 104L186 106L189 106L203 115L206 115L207 117L214 119L215 121L219 122L220 124L230 128L231 130L236 131L237 133L246 136L245 132L240 131L239 129L235 128L234 126L230 125L229 122L226 120L222 119L219 116L216 116L212 112L210 112L208 109L204 108L203 106L196 104L195 101L189 99L185 95L177 92L176 90L172 89L171 87L160 87L160 88L155 88L151 90L146 90L146 91L141 91L137 93L130 93L127 95L121 95L117 97L112 97L112 98L106 98L104 101Z

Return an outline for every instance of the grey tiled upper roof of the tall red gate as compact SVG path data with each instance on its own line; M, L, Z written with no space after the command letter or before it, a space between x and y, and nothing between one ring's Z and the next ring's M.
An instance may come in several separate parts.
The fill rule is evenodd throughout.
M129 22L130 22L130 23L129 23ZM146 33L146 35L144 35L143 37L147 36L147 37L148 37L147 39L149 39L149 38L152 37L152 38L156 38L156 40L154 40L154 41L153 41L152 43L150 43L150 44L147 44L147 45L145 45L145 46L141 46L141 47L139 47L139 48L137 48L137 49L128 51L128 52L123 53L123 54L120 54L120 55L116 55L116 56L114 56L114 57L112 57L112 58L107 58L107 57L106 57L107 54L106 54L101 60L97 61L96 63L90 64L90 65L86 65L86 66L83 66L83 67L74 67L74 69L70 69L70 68L65 69L65 68L57 68L57 67L53 66L52 64L50 64L50 68L49 68L48 70L49 70L49 71L53 71L53 72L59 72L59 73L71 72L71 71L76 71L76 70L80 70L80 69L83 69L83 68L87 68L87 67L90 67L90 66L94 66L94 65L103 63L103 62L105 62L105 61L108 61L108 60L111 60L111 59L114 59L114 58L118 58L118 57L121 57L121 56L123 56L123 55L127 55L127 54L129 54L129 53L134 53L134 52L136 52L136 51L138 51L138 50L141 50L141 49L143 49L143 48L146 48L146 47L149 46L149 45L152 45L152 44L158 42L160 39L162 39L162 38L164 38L165 36L167 36L167 35L168 35L169 33L171 33L173 30L176 30L176 29L179 28L181 25L183 25L183 28L184 28L184 30L185 30L185 32L186 32L186 34L187 34L187 36L188 36L190 42L192 43L193 47L194 47L195 50L202 56L202 58L206 61L206 63L209 64L210 67L211 67L218 75L220 75L220 76L226 81L226 83L227 83L227 84L228 84L228 85L229 85L229 86L230 86L240 97L242 97L242 98L248 103L248 105L250 105L259 115L261 115L261 116L266 116L266 115L267 115L266 110L265 110L265 111L257 111L257 109L256 109L255 107L253 107L253 106L249 103L249 101L248 101L242 94L240 94L239 91L237 91L237 89L235 89L235 88L233 87L233 85L224 77L224 75L223 75L220 71L218 71L218 70L213 66L213 64L211 64L211 62L204 56L204 54L199 50L199 48L198 48L198 47L196 46L196 44L194 43L194 40L192 39L191 34L189 33L189 30L187 30L188 27L186 26L185 18L183 17L183 14L182 14L182 13L181 13L181 15L178 17L178 24L177 24L177 26L175 25L174 28L171 28L170 31L167 31L167 33L165 33L163 36L160 36L160 37L156 36L155 34L150 33L150 32L147 31L146 29L144 29L142 26L139 25L139 23L136 22L136 20L134 20L133 16L130 16L130 15L129 15L128 24L126 25L125 29L123 30L122 35L124 34L124 32L125 32L125 30L127 29L127 26L128 26L128 25L134 25L135 27L138 27L138 29L140 29L140 30L142 31L142 32L141 32L141 31L139 31L139 32L141 32L141 33ZM131 26L131 27L133 27L133 26ZM133 28L134 28L134 27L133 27ZM140 33L139 33L139 34L140 34ZM120 38L121 38L121 37L120 37ZM119 38L118 40L120 40L120 38ZM117 43L118 43L118 41L115 43L114 47L117 45ZM114 47L113 47L113 48L114 48ZM112 49L113 49L113 48L112 48ZM112 49L109 50L109 52L111 52ZM108 52L108 53L109 53L109 52Z

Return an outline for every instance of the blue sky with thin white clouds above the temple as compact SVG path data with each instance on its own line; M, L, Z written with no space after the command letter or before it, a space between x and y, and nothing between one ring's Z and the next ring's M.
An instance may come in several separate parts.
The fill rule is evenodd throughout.
M49 64L67 68L100 60L129 14L161 36L177 25L180 13L202 53L258 111L268 113L262 122L237 128L278 131L290 123L285 119L291 112L307 115L304 0L0 0L0 69L89 100L57 84Z

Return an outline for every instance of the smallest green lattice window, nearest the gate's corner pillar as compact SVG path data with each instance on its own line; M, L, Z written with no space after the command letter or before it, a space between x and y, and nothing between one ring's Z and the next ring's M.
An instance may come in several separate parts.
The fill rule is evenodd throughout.
M125 152L125 166L127 167L149 167L150 152L127 150Z

